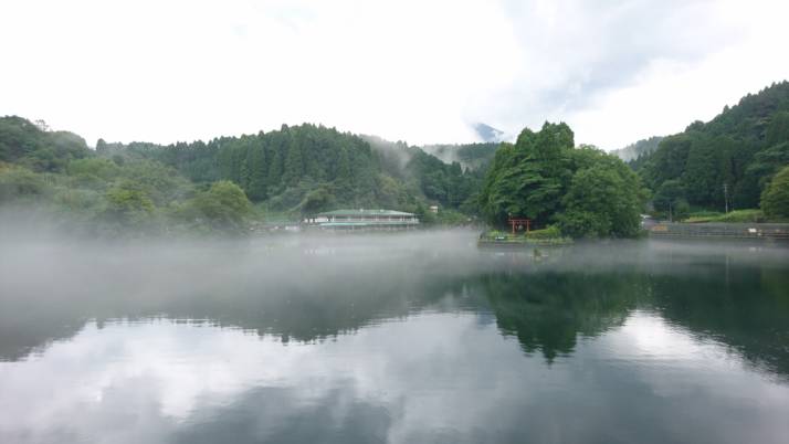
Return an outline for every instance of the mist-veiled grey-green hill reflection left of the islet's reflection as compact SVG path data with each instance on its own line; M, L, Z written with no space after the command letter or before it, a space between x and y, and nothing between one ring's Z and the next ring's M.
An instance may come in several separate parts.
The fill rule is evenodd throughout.
M0 357L23 358L91 320L101 328L170 318L314 341L428 306L465 304L466 283L455 277L471 257L446 264L443 253L413 239L361 240L12 246L0 255ZM469 237L462 240L467 249Z

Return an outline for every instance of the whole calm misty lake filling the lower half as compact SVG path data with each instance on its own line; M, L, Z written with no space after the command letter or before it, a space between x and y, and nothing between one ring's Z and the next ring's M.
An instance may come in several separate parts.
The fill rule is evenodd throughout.
M2 443L786 443L789 250L11 240Z

